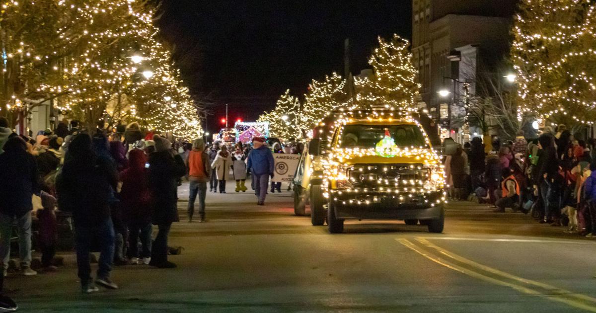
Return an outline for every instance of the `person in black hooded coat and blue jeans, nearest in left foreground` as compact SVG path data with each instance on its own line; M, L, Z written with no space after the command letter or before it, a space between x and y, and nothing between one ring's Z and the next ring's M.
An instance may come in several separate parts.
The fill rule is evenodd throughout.
M117 289L111 281L114 260L114 225L110 218L110 201L118 183L118 172L108 159L98 157L91 137L76 135L69 145L56 187L60 210L72 212L75 224L78 275L83 293L98 291L91 278L89 252L91 241L100 244L99 269L95 283Z

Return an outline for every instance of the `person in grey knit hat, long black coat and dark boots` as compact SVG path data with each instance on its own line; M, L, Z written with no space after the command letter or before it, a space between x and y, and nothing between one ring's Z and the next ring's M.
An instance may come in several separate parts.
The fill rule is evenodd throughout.
M151 193L151 222L157 225L157 237L151 247L149 265L157 268L175 268L167 261L167 237L172 222L178 222L178 183L185 175L184 160L172 150L172 144L160 135L154 135L155 152L149 156L149 190Z

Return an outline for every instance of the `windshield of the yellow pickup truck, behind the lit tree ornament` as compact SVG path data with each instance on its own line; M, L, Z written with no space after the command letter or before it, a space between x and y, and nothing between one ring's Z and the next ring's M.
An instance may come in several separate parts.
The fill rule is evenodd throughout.
M428 148L424 135L417 125L345 125L342 132L342 148L374 148L383 140L386 132L398 147Z

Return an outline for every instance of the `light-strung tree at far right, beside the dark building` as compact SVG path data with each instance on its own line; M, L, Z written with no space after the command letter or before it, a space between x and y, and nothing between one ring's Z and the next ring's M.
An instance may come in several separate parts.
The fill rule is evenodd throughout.
M523 0L513 27L518 119L591 124L596 118L596 4Z

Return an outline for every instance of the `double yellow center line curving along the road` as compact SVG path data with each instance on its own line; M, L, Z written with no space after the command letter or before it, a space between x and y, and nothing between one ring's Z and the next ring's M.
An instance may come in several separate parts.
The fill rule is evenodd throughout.
M406 246L414 252L419 253L430 261L454 271L461 272L462 274L466 274L470 277L496 284L498 286L510 287L528 295L544 297L545 299L564 303L585 311L596 312L596 306L594 306L592 303L586 303L586 301L596 302L596 299L592 297L558 289L548 284L539 283L538 281L526 280L525 278L517 277L515 275L499 271L498 269L493 269L489 266L478 264L461 256L455 255L454 253L448 252L447 250L430 243L424 238L416 238L416 240L422 246L418 246L406 238L396 238L396 240L403 244L403 246ZM437 253L437 255L435 255L435 253ZM532 289L530 287L524 286L524 284L540 287L546 292Z

